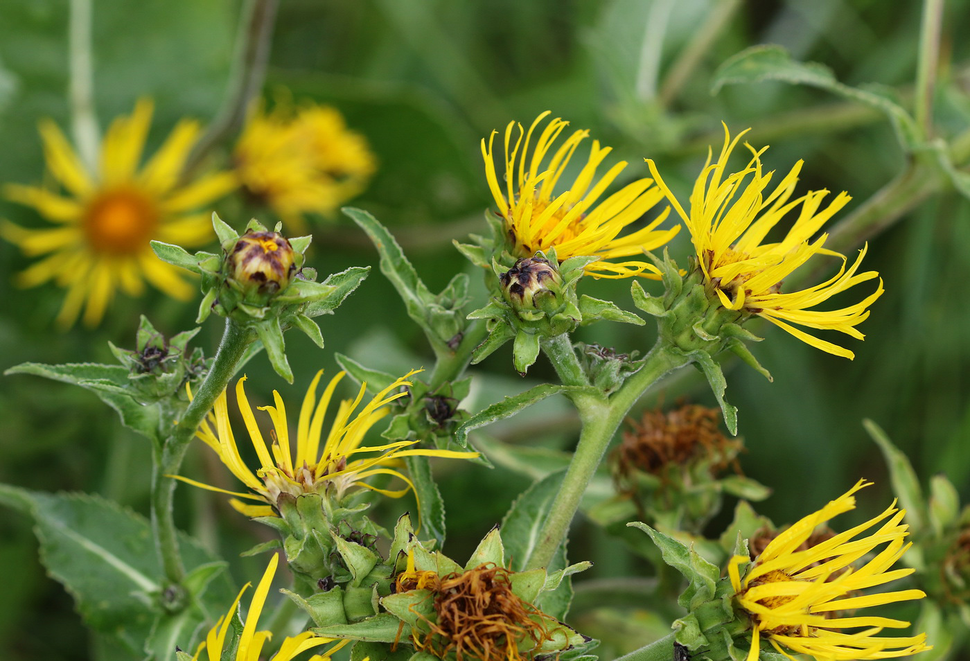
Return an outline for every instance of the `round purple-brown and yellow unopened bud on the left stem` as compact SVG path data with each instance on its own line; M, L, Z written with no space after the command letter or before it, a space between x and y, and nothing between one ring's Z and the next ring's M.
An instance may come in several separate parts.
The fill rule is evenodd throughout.
M229 275L243 290L275 294L296 272L293 247L276 232L246 232L228 257Z

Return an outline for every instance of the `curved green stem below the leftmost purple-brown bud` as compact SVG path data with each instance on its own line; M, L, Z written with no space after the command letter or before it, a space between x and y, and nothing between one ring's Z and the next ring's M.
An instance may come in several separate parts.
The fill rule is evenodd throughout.
M178 553L178 530L172 506L176 480L167 476L178 474L195 430L209 413L215 398L236 374L240 360L253 340L254 335L249 329L232 319L226 319L222 342L219 343L209 374L175 424L172 435L155 451L151 476L151 530L165 578L170 584L178 585L185 578L185 568Z

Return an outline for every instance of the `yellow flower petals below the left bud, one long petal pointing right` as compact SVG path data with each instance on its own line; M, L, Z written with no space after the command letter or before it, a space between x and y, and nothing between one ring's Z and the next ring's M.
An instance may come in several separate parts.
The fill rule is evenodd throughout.
M334 390L345 373L340 372L327 384L318 401L316 387L323 375L323 370L317 372L309 384L307 395L304 397L303 406L300 409L295 453L290 444L286 408L279 393L273 391L275 406L260 407L260 411L266 411L270 414L274 426L274 431L271 432L273 443L267 445L256 424L256 418L243 390L242 383L245 380L245 377L243 377L236 384L236 400L249 439L259 458L259 468L255 472L251 471L242 461L232 427L229 424L225 391L216 399L209 420L203 422L196 432L196 436L210 446L232 474L254 493L225 491L193 479L178 479L211 491L220 491L240 498L261 501L269 506L276 505L276 500L281 493L288 493L292 496L314 492L326 493L329 497L339 500L354 487L364 487L391 498L401 498L414 488L411 480L396 470L404 457L429 456L469 459L478 456L477 452L407 449L408 446L413 446L418 441L397 441L382 446L361 446L368 430L377 420L388 413L386 405L407 394L404 386L411 385L407 378L418 372L420 370L408 372L403 378L391 383L354 415L354 411L364 399L367 383L362 384L356 399L340 402L337 416L331 424L330 433L326 439L323 438L324 416L329 408ZM351 415L353 415L352 419ZM320 447L321 441L323 442L322 449ZM378 454L368 458L356 458L357 455L374 453ZM389 490L372 486L364 481L375 475L389 475L402 479L405 486L402 489ZM237 500L232 500L230 503L239 512L247 516L275 515L273 507L267 507L267 505L245 505Z

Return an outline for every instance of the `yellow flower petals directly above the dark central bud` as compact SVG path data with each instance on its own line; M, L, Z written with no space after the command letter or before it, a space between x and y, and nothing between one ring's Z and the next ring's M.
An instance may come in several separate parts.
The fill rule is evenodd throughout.
M627 167L627 162L615 164L594 182L600 164L612 150L600 148L599 141L594 140L586 163L569 189L554 196L553 191L566 171L569 159L589 131L574 131L547 160L554 143L568 125L559 117L551 120L530 149L533 132L549 114L546 111L537 116L528 133L518 124L519 135L514 146L512 133L517 124L513 121L505 127L504 184L500 183L496 172L492 149L498 131L492 132L487 144L484 139L481 143L485 177L499 206L510 252L515 257L532 257L536 250L545 252L555 246L561 261L577 255L598 255L600 259L585 269L594 278L656 277L659 271L649 262L611 260L660 248L677 234L680 225L655 230L669 214L667 208L645 227L618 236L660 202L663 192L652 186L652 180L641 179L598 202L606 188Z

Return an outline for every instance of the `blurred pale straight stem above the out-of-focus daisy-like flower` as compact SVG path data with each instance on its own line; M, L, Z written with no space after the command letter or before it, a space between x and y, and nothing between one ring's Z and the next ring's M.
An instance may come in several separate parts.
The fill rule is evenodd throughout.
M98 167L101 131L94 113L94 68L91 63L91 0L71 0L69 47L71 60L71 128L81 160L92 172Z

